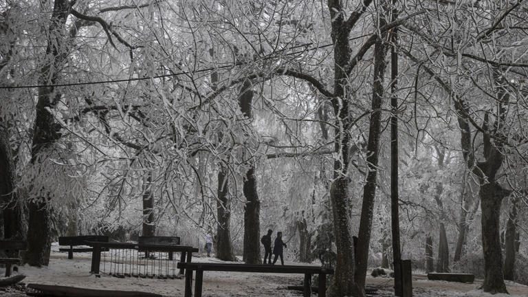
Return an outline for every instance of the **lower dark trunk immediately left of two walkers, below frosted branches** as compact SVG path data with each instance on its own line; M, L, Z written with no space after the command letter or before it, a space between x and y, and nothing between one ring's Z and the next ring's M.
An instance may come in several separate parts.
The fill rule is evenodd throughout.
M244 196L247 202L244 207L244 253L246 264L261 264L261 201L256 192L255 167L252 166L245 174Z

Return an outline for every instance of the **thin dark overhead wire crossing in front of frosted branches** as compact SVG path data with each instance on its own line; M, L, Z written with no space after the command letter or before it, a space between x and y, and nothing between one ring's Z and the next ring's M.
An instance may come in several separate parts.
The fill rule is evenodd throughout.
M365 36L370 36L371 34L364 34L364 35L361 35L361 36L356 36L356 37L353 37L351 39L349 39L349 41L353 41L355 39L360 39L360 38L363 38ZM307 46L310 46L310 45L313 45L314 43L304 43L302 45L295 45L293 47L288 47L287 49L284 49L284 50L280 50L278 52L274 52L272 54L270 54L269 56L265 56L263 58L263 61L265 60L270 60L271 58L280 58L281 56L292 56L292 55L295 55L295 54L300 54L302 52L311 52L311 51L314 51L314 50L319 50L319 49L322 49L322 48L325 48L325 47L331 47L333 46L333 43L327 43L325 45L318 45L318 46L315 46L315 47L310 47L306 50L298 50L296 52L291 52L291 53L288 53L288 54L283 54L283 55L279 55L280 52L285 52L287 50L294 50L294 49L297 49L297 48L300 48L300 47L307 47ZM138 80L150 80L150 79L155 79L155 78L167 78L167 77L175 77L175 76L181 76L181 75L186 75L186 74L196 74L196 73L201 73L201 72L210 72L210 71L214 71L214 70L218 70L218 69L226 69L226 68L232 68L232 67L236 67L236 66L241 66L241 65L249 65L250 63L254 63L256 61L246 61L246 62L239 62L239 63L232 63L232 64L229 64L229 65L223 65L223 66L219 66L219 67L208 67L208 68L203 68L203 69L197 69L195 71L182 71L182 72L175 72L175 73L172 73L172 74L162 74L162 75L157 75L157 76L145 76L145 77L141 77L141 78L122 78L122 79L115 79L115 80L96 80L96 81L91 81L91 82L78 82L78 83L58 83L58 84L54 84L54 85L18 85L18 86L0 86L0 89L32 89L32 88L39 88L39 87L69 87L69 86L79 86L79 85L103 85L103 84L109 84L109 83L126 83L126 82L133 82L133 81L138 81Z

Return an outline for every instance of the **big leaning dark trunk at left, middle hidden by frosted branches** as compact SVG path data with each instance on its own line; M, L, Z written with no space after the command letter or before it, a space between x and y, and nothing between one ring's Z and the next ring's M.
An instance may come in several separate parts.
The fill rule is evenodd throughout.
M66 57L66 46L63 34L69 15L69 1L55 0L48 28L46 60L41 68L39 85L53 85L58 81L58 73ZM36 118L33 125L33 144L31 162L43 162L47 148L54 145L61 135L54 122L53 115L47 109L53 109L61 93L54 87L39 87L36 103ZM48 206L49 197L37 197L28 203L30 219L28 222L28 250L25 262L32 266L47 265L50 262L52 224L51 210Z

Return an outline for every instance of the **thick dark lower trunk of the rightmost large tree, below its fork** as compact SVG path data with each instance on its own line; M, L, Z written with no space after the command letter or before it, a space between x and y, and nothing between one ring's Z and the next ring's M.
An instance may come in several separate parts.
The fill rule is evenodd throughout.
M503 275L503 254L500 250L500 204L502 195L497 184L481 186L482 246L484 250L483 290L491 294L507 293Z

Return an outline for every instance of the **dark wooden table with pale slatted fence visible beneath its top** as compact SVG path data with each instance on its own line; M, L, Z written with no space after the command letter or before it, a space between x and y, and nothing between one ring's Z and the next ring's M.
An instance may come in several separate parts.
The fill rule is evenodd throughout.
M156 251L156 252L179 252L181 258L179 263L190 263L192 261L192 253L198 252L197 248L192 248L187 245L148 245L148 244L135 244L135 243L104 243L91 241L89 245L94 247L94 251L91 254L91 268L90 273L99 274L101 265L101 252L109 250L137 250L137 251ZM184 274L184 268L179 268L179 274Z

